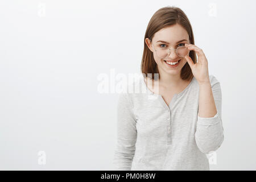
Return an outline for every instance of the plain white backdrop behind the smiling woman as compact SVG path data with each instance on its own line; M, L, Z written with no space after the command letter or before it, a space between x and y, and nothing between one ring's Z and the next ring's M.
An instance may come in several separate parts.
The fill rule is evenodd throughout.
M180 7L222 89L212 170L256 169L255 1L1 1L0 169L109 170L118 93L98 76L139 73L156 10Z

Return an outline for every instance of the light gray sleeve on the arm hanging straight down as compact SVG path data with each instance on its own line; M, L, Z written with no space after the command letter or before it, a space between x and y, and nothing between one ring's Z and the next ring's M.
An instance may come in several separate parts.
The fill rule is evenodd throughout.
M115 170L129 171L137 141L136 119L127 93L121 93L117 104L117 146L114 152Z

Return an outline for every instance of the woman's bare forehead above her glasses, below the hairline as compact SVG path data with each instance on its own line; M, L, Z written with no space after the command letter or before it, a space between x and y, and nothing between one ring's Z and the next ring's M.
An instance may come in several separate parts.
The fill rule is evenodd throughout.
M153 38L153 42L164 40L174 44L182 39L189 39L188 32L185 30L185 28L180 26L180 24L174 24L172 26L162 28L156 32Z

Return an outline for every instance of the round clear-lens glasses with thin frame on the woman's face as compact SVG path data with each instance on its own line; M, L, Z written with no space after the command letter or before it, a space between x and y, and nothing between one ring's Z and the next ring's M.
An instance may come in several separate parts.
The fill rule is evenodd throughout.
M162 45L165 45L166 47L161 47ZM155 49L156 55L161 59L167 59L167 57L171 53L171 47L168 47L166 44L161 44L156 47L152 44L152 46ZM176 48L174 50L175 50L177 56L179 56L179 57L185 57L189 53L188 48L185 46L179 46L178 48Z

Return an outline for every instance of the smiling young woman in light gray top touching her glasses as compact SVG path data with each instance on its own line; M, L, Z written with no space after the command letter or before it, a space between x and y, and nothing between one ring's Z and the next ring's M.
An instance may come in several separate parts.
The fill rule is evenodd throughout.
M221 87L187 16L177 7L159 9L144 40L137 84L147 93L119 95L115 169L209 170L206 154L224 140Z

